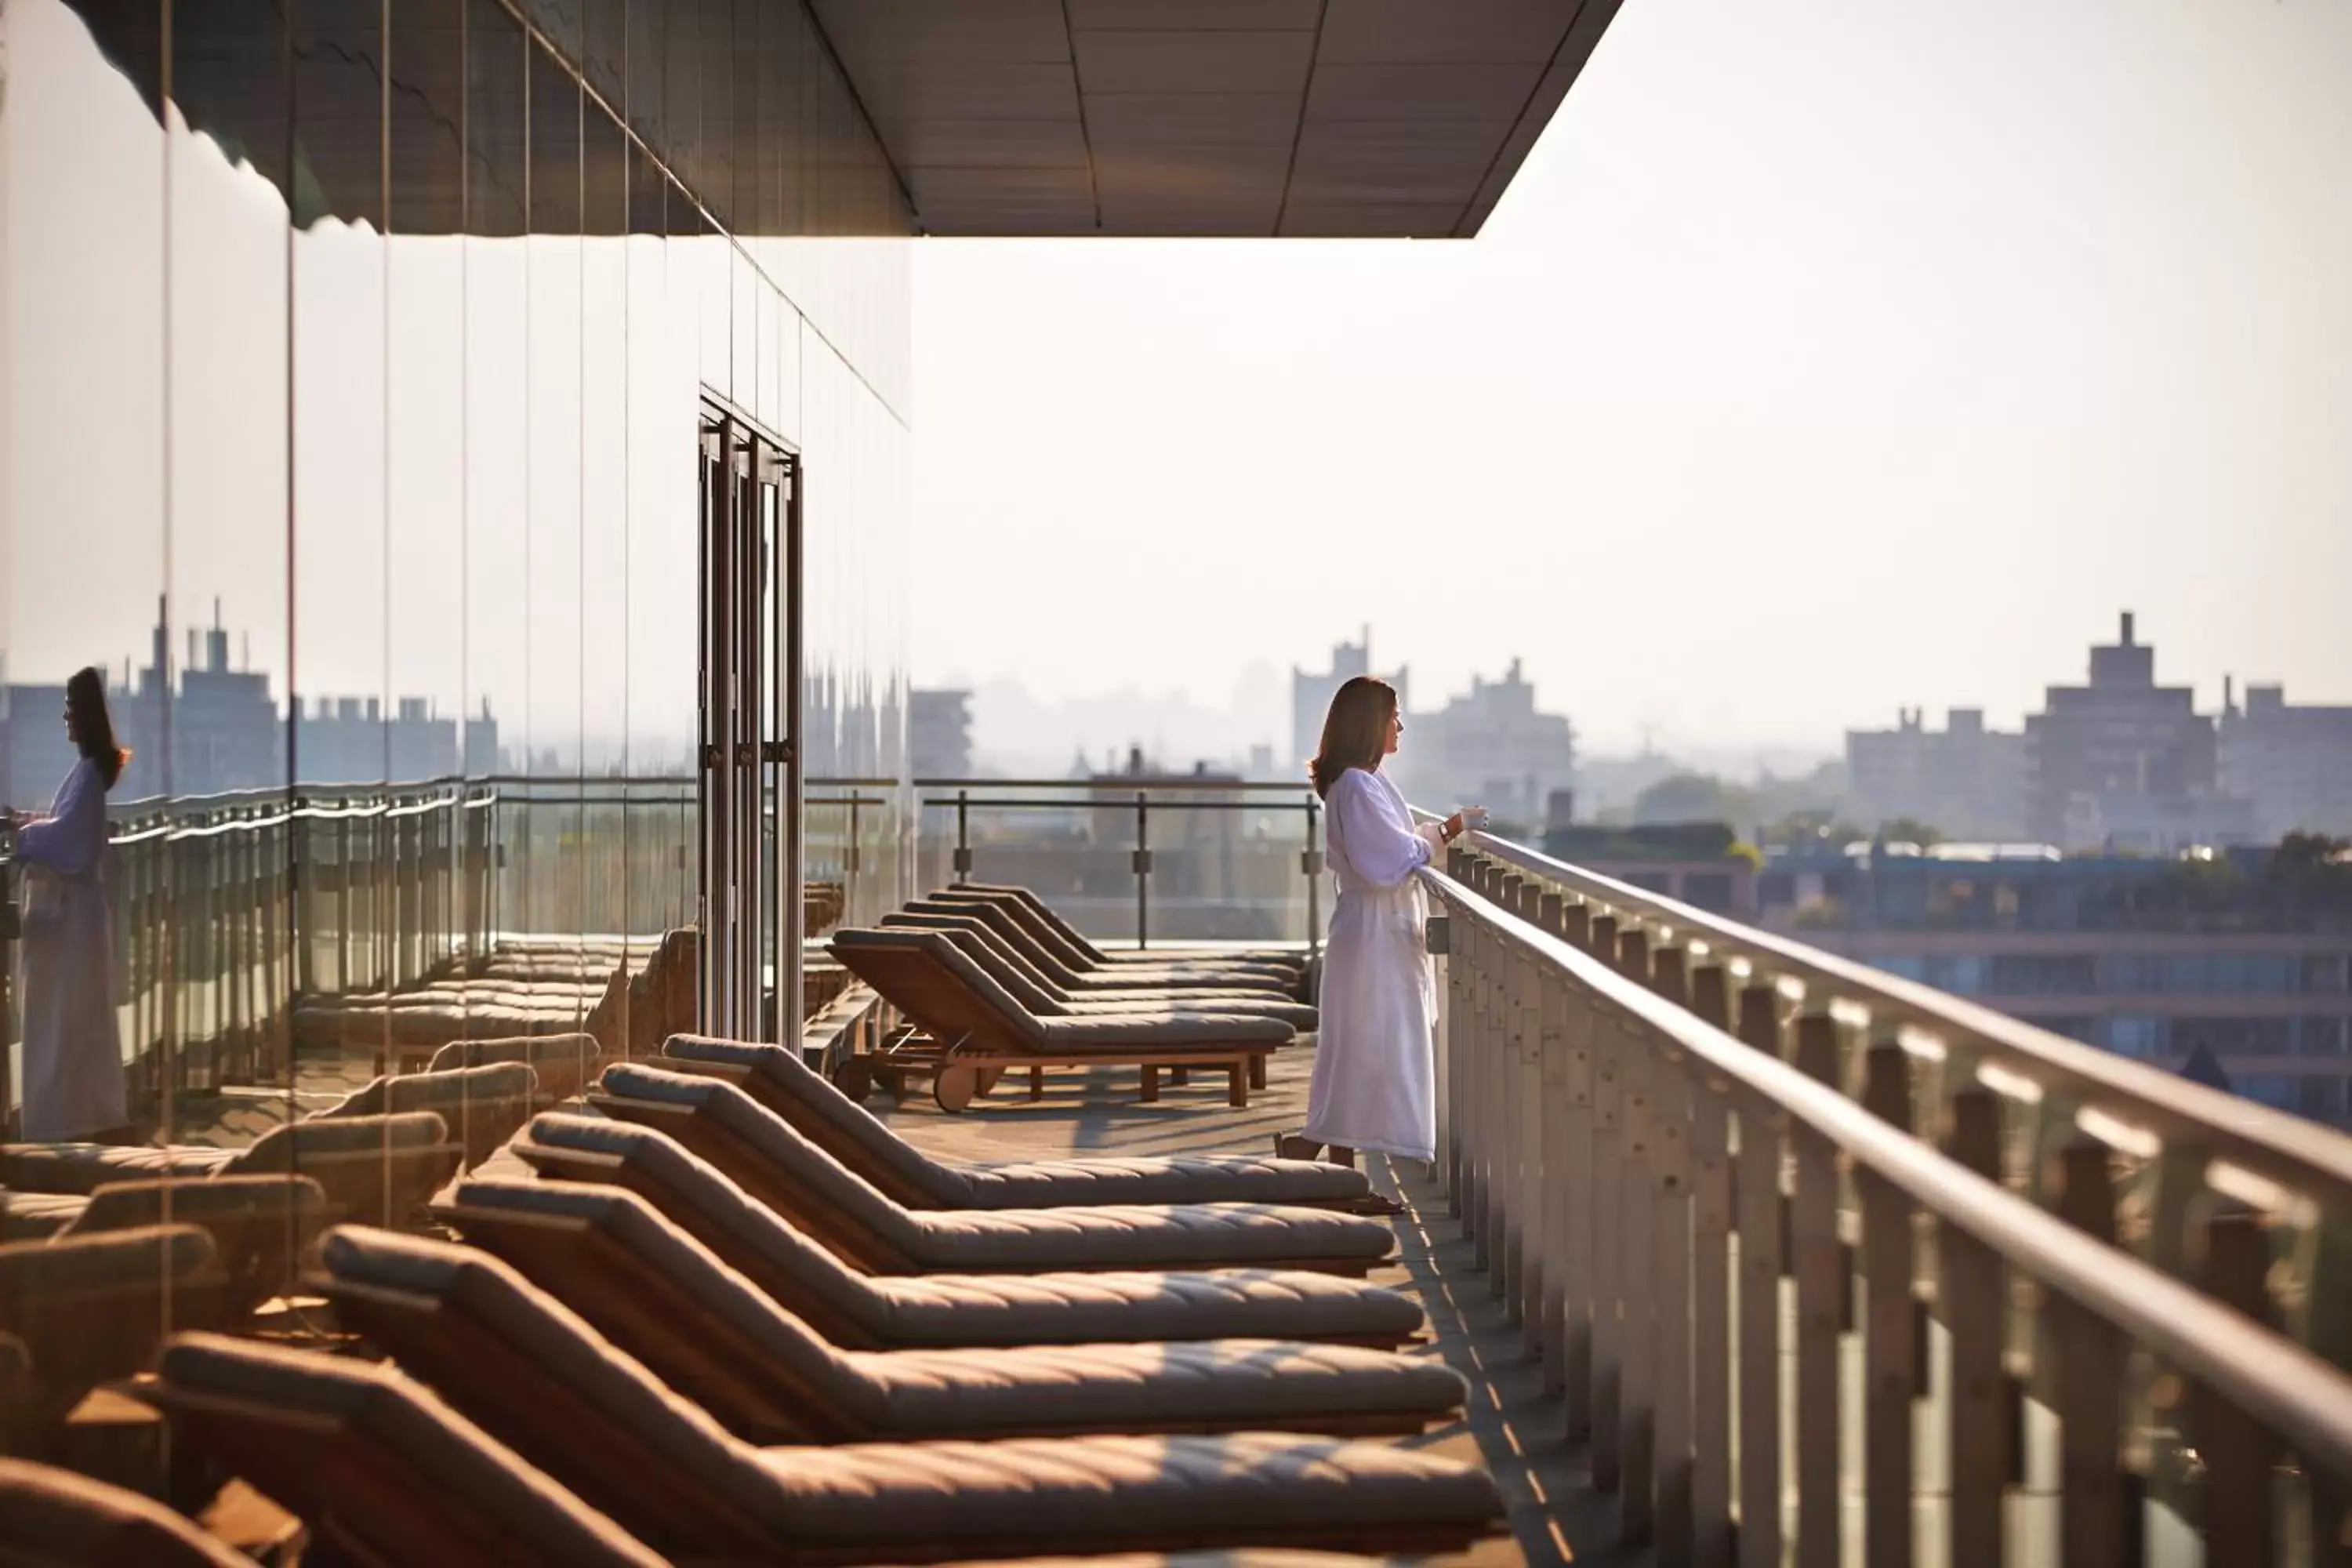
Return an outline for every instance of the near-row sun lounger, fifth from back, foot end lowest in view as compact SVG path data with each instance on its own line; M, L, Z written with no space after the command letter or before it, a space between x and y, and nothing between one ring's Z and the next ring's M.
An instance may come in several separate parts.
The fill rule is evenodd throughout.
M339 1234L329 1232L325 1248L336 1248ZM569 1316L553 1302L543 1312ZM1451 1552L1501 1523L1501 1497L1482 1469L1388 1443L1244 1432L755 1448L595 1328L572 1324L572 1333L475 1340L480 1319L459 1314L409 1347L430 1361L405 1371L623 1530L680 1559ZM174 1380L172 1354L165 1378Z

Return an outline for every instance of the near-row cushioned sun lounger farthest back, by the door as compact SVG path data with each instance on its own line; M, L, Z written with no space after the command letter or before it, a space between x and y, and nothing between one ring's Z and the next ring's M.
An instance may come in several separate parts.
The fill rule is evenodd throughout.
M1061 1208L1073 1204L1287 1204L1348 1208L1371 1194L1350 1166L1265 1154L1185 1154L967 1164L931 1159L786 1046L673 1034L663 1065L708 1072L908 1208Z

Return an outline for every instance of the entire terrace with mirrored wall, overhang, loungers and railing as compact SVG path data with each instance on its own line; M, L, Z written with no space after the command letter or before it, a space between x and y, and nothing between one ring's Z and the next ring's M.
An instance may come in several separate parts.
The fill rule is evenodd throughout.
M2345 1568L2345 1133L1477 835L1390 1225L1312 795L913 776L910 242L1465 240L1613 14L0 5L0 1559Z

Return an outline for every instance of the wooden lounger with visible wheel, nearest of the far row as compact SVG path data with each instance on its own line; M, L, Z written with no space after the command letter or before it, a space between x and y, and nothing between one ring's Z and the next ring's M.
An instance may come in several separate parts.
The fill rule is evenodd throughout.
M1294 1034L1272 1018L1211 1013L1037 1018L936 931L835 931L833 954L938 1044L943 1110L971 1103L981 1070L1080 1065L1138 1067L1145 1103L1160 1098L1162 1067L1221 1067L1242 1107L1251 1081L1265 1081L1265 1056Z

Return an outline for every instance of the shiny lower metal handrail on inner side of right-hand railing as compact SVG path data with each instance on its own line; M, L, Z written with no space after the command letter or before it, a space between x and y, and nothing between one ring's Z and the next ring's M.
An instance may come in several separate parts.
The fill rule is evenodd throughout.
M1425 867L1418 875L1449 910L1475 917L1526 957L1562 971L1611 1009L1630 1013L1675 1048L1705 1063L1710 1072L1802 1121L1856 1166L1900 1187L1938 1222L1966 1232L2011 1267L2256 1415L2307 1462L2352 1479L2352 1378L2336 1366L1976 1175L1832 1086L1700 1023L1686 1009L1479 898L1444 872Z

